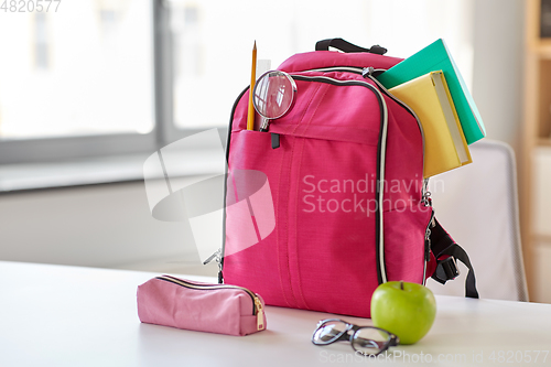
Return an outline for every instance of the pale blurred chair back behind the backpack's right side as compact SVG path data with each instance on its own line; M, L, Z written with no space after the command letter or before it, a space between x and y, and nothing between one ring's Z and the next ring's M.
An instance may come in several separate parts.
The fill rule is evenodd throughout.
M520 245L517 174L512 149L488 139L469 145L473 163L431 177L436 218L468 253L480 298L528 301ZM463 295L467 269L435 294Z

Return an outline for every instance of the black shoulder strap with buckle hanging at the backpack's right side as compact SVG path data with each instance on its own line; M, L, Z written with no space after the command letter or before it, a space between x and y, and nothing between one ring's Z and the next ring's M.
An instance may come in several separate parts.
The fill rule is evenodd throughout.
M468 268L467 279L465 280L465 296L477 299L475 270L467 252L453 240L436 218L434 218L434 226L431 228L431 250L436 258L436 270L432 278L442 284L455 278L458 274L455 265L455 259L457 259ZM449 257L443 258L445 256Z

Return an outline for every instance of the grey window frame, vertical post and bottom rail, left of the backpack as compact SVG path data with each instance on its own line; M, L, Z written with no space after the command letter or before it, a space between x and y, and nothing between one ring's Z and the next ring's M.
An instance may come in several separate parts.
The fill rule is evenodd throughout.
M0 164L45 163L153 152L205 129L179 129L173 119L173 60L170 2L150 0L153 32L153 119L149 133L106 133L0 140ZM224 131L222 134L225 136ZM196 149L214 148L198 143Z

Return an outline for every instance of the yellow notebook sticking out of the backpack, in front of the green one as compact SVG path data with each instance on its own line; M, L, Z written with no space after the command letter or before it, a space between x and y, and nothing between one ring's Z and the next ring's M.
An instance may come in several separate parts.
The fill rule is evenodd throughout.
M421 121L425 179L473 162L441 71L400 84L389 91L411 107Z

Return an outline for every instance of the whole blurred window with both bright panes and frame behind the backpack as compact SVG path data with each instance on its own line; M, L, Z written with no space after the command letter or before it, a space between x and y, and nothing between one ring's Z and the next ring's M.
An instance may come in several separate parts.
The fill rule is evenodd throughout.
M468 84L472 3L79 0L0 12L0 163L151 152L226 127L253 41L261 72L327 37L401 57L444 37Z

